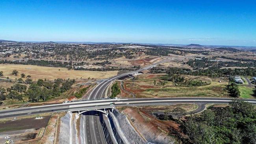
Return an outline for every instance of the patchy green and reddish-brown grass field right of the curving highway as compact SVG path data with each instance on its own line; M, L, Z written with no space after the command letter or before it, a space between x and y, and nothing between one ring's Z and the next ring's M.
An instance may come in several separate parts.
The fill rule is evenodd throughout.
M165 86L154 85L154 80L159 81L163 74L144 74L135 80L134 85L130 79L126 80L125 87L128 91L135 93L139 98L156 97L228 97L225 90L228 84L227 78L209 78L205 76L184 76L189 79L207 81L210 85L200 87L187 87L174 85L168 81ZM221 83L219 82L221 81Z

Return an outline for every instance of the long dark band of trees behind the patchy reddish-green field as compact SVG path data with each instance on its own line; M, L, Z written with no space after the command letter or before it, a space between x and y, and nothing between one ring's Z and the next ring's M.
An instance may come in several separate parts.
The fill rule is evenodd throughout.
M186 75L192 75L192 76L210 76L212 78L215 77L221 77L221 76L256 76L256 68L224 68L221 69L220 66L211 66L205 70L190 70L189 68L158 68L154 67L151 68L150 71L153 74L159 74L159 73L169 73L171 74L186 74Z

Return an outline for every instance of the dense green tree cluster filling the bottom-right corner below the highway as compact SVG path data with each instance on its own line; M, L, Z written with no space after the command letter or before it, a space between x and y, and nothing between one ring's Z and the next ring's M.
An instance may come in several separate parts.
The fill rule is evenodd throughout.
M182 140L193 144L255 144L256 111L252 104L234 100L228 107L211 107L186 117ZM170 131L171 132L171 131Z

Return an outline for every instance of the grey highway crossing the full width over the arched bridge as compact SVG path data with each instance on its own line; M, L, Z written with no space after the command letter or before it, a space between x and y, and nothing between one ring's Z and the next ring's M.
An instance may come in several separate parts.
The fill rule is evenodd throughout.
M95 108L102 109L109 107L110 103L117 106L139 106L139 105L166 105L172 103L229 103L233 98L130 98L130 99L111 99L111 100L94 100L90 102L72 102L62 104L52 104L47 106L24 107L22 109L9 109L0 111L0 118L37 114L52 113L56 111L69 111L73 108ZM239 99L245 102L256 104L256 99ZM128 104L129 103L129 104ZM97 114L95 114L97 115Z

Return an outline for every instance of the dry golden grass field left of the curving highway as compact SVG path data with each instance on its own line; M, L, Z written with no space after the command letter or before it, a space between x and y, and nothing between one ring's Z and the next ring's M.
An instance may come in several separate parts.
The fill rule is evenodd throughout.
M19 76L13 76L11 73L13 70L19 71ZM35 66L35 65L14 65L14 64L0 64L0 71L4 72L4 76L1 78L19 79L20 74L24 73L26 76L30 75L33 80L37 79L84 79L94 78L94 79L104 79L111 76L117 75L118 71L86 71L86 70L67 70L67 68L55 68L46 66ZM26 78L23 78L24 80Z

